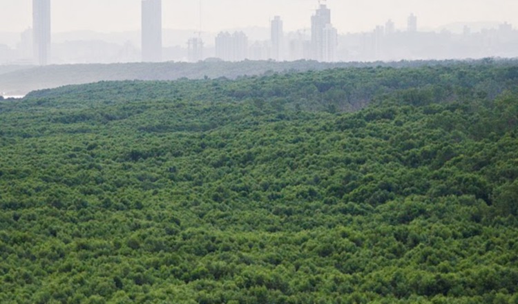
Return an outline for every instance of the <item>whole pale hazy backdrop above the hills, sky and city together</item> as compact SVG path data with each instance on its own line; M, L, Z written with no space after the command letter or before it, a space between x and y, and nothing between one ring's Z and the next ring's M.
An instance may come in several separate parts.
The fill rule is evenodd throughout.
M517 57L517 1L4 0L0 64Z

